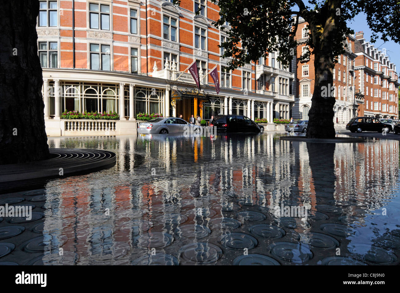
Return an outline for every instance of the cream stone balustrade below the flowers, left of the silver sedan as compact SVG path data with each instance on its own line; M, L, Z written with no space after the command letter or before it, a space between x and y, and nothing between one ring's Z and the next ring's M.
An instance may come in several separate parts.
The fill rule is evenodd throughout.
M65 120L65 131L105 132L116 131L117 121L114 120Z

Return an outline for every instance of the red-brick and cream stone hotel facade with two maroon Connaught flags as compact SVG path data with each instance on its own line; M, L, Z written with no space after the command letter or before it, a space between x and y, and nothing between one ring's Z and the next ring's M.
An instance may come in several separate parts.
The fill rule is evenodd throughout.
M268 120L290 118L294 74L276 61L225 71L218 45L229 24L218 29L218 6L206 0L39 1L38 55L43 70L49 136L132 134L136 114L241 114ZM200 14L195 11L201 8ZM196 62L201 91L186 68ZM220 92L208 75L217 66ZM186 70L186 71L185 71ZM64 111L109 112L120 120L60 119Z

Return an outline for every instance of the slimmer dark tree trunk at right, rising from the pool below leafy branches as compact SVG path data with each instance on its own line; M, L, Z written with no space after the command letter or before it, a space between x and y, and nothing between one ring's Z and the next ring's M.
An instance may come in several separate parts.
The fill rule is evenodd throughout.
M314 52L314 92L308 112L308 138L334 138L333 118L335 96L333 88L332 60L328 54Z

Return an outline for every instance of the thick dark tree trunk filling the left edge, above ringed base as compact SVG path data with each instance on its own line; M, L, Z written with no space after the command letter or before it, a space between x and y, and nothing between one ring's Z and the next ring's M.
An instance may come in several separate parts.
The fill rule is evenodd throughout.
M38 1L2 2L0 10L0 164L49 157L38 57Z

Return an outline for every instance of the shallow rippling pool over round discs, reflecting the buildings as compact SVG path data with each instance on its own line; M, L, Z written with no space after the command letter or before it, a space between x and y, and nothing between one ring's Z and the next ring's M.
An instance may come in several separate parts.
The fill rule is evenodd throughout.
M117 163L0 194L0 265L398 265L398 142L281 135L49 138Z

